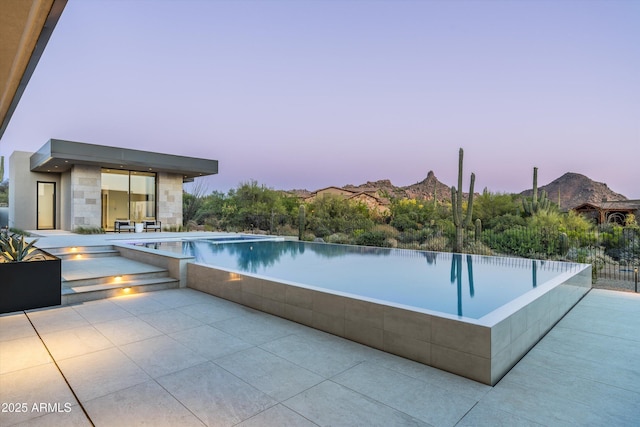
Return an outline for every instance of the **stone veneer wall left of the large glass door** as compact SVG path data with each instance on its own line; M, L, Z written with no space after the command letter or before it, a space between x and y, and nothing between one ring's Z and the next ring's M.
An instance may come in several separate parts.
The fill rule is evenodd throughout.
M101 169L74 165L71 171L71 231L77 227L100 227L102 218Z

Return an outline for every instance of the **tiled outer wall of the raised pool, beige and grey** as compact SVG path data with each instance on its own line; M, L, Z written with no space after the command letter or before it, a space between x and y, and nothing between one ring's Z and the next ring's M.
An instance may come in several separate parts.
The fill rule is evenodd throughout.
M591 288L591 267L492 324L187 264L187 287L495 385Z

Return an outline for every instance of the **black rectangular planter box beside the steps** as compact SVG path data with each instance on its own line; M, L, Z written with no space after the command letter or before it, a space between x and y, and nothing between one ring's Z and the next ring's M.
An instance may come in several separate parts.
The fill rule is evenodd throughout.
M47 259L0 263L0 313L60 305L62 264Z

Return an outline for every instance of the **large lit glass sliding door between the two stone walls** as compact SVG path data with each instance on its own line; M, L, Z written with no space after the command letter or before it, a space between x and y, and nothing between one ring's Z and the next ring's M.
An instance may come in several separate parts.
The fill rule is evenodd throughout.
M119 219L156 219L156 174L102 170L102 228L113 230Z

